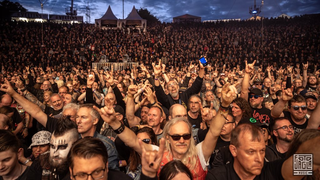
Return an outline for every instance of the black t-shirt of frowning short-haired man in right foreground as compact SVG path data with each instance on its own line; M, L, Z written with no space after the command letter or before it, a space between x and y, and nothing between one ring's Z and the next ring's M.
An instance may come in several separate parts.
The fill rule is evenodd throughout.
M284 160L275 160L272 162L265 162L261 173L256 176L254 180L282 180L281 167ZM206 180L240 180L233 168L233 162L228 165L223 165L210 170L205 178Z

